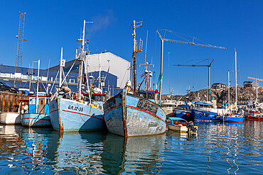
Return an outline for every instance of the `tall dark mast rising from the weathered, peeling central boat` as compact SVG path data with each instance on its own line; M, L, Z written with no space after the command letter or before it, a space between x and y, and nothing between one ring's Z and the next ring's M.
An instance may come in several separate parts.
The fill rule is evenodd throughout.
M133 26L132 26L132 29L134 30L134 33L132 34L132 37L134 38L134 51L132 52L132 65L133 65L133 67L134 67L134 74L133 74L133 80L134 80L134 82L133 82L133 89L134 89L134 94L136 94L137 93L137 81L136 81L136 53L137 52L141 52L142 51L142 45L141 45L141 40L139 41L140 42L140 46L139 46L139 50L137 50L136 49L136 47L137 47L137 45L136 45L136 43L137 43L137 41L136 41L136 33L135 33L135 29L136 28L138 28L139 26L136 26L136 23L140 23L140 25L139 26L141 26L141 23L142 23L142 21L140 21L140 22L136 22L136 21L134 21L133 22Z

